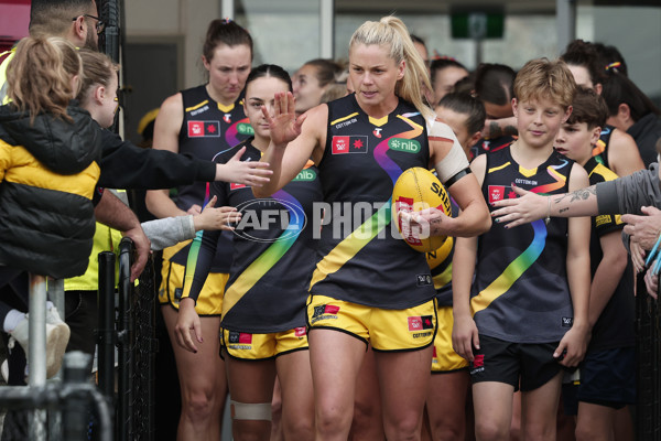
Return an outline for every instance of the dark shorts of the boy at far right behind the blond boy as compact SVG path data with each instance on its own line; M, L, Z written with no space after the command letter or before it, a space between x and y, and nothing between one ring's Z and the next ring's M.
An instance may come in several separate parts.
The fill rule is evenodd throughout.
M588 353L581 366L577 398L614 409L636 404L636 348Z

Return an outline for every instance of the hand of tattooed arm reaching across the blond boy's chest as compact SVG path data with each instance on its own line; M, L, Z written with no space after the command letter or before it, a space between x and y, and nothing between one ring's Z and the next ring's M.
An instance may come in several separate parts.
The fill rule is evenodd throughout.
M494 222L505 224L506 228L512 228L546 217L549 213L546 197L549 196L540 196L513 184L512 190L519 197L503 198L491 203L497 208L491 212Z

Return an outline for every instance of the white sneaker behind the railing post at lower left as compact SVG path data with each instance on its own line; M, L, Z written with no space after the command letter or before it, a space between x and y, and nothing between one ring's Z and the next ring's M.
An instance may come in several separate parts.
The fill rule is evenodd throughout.
M52 308L46 313L46 378L51 378L59 372L62 358L64 357L64 352L66 351L66 345L71 336L68 325L59 319L57 310L55 310L54 313L53 310L55 310L55 308ZM51 321L58 321L58 323L52 324ZM19 342L25 352L25 357L28 357L28 354L30 353L29 329L28 314L25 314L25 320L22 320L17 325L10 333L11 337L9 338L10 347L13 347L12 340Z

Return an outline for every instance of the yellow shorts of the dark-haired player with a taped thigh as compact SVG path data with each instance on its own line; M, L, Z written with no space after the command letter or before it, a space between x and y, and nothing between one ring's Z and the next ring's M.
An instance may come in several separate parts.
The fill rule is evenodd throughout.
M305 326L269 334L250 334L223 329L220 344L232 358L268 359L294 351L307 349L307 333Z

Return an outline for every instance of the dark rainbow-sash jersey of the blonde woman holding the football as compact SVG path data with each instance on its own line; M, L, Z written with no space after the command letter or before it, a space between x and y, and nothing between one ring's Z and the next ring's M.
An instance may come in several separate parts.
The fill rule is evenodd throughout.
M319 175L327 204L311 293L368 306L405 309L435 294L424 254L409 247L392 223L400 174L427 168L424 118L400 99L381 119L349 95L328 103Z

